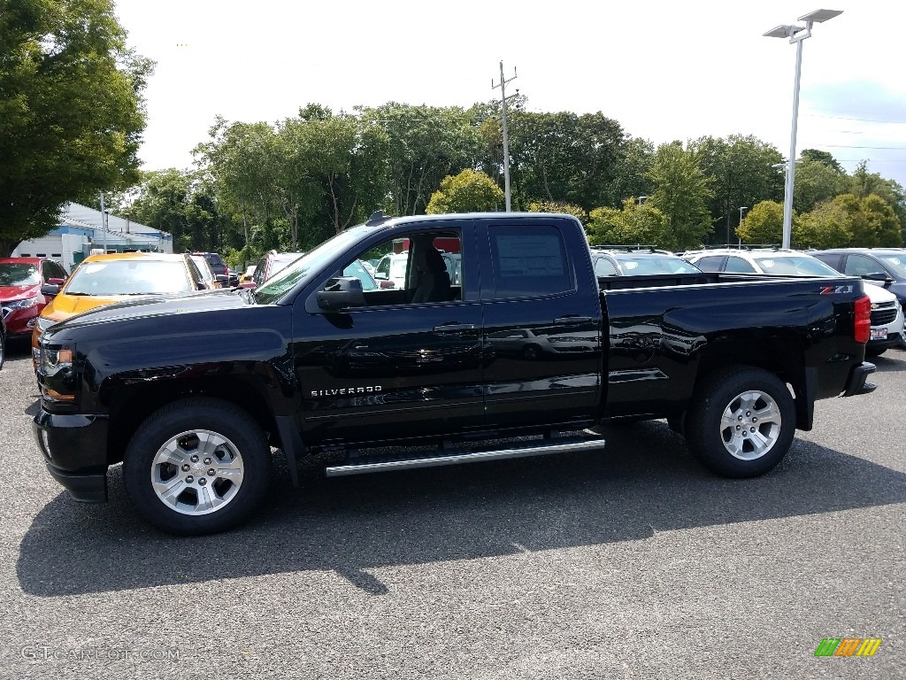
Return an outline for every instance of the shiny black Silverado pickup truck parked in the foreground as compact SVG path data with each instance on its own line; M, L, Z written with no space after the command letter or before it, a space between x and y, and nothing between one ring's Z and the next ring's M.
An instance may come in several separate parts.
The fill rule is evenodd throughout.
M364 267L402 253L396 281ZM439 253L460 263L452 281ZM750 477L811 429L816 400L874 388L858 278L617 285L599 286L569 216L376 213L255 290L51 326L35 437L74 499L106 500L121 461L147 520L200 534L252 513L271 447L295 482L318 453L328 475L487 461L663 418L709 469Z

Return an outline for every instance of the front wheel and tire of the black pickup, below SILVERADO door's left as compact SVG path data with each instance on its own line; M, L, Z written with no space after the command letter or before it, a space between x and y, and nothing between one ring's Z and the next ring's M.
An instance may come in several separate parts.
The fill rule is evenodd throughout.
M271 462L265 433L248 413L196 397L170 403L140 425L126 449L123 481L155 527L197 536L247 520L267 491Z

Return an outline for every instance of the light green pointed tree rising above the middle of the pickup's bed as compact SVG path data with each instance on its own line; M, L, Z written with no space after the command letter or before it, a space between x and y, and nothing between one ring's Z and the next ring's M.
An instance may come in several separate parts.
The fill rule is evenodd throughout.
M671 250L701 245L711 232L706 201L713 193L695 151L679 141L661 144L648 176L654 185L648 203L660 210L667 228L663 245Z

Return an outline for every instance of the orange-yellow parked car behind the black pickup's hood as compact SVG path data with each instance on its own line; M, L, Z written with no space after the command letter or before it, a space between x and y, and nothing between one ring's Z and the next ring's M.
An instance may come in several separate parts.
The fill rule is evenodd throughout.
M43 286L53 296L32 329L32 355L48 326L97 306L135 296L188 293L212 287L189 255L170 253L110 253L85 257L63 286Z

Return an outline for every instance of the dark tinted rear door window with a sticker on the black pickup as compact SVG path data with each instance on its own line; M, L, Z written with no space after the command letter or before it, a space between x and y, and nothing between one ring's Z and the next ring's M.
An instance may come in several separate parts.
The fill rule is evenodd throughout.
M548 296L573 290L564 239L558 228L491 225L488 234L494 268L491 297Z

